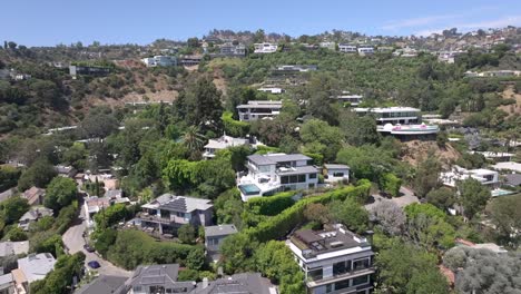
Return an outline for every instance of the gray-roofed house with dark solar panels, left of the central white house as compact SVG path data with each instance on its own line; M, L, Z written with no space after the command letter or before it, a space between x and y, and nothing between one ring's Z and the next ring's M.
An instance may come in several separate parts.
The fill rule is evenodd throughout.
M214 205L209 199L164 194L141 206L137 225L159 234L174 234L181 225L212 225Z

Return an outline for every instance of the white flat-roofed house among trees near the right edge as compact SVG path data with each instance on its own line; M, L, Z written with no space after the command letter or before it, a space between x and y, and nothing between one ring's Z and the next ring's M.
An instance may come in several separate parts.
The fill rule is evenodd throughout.
M495 187L499 184L499 173L495 170L478 168L466 169L460 166L454 166L452 170L440 174L440 180L449 187L456 187L458 182L473 178L482 185Z

